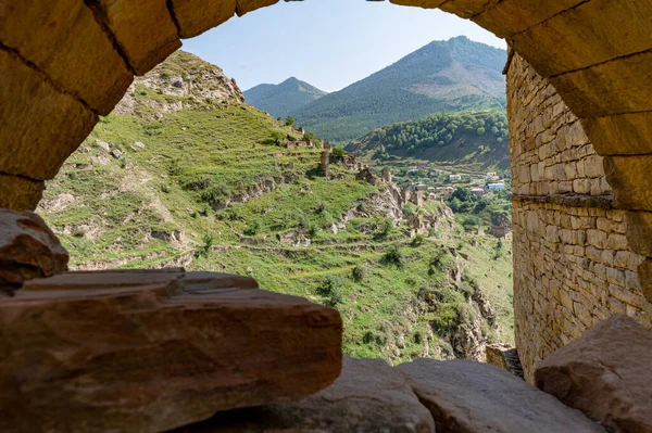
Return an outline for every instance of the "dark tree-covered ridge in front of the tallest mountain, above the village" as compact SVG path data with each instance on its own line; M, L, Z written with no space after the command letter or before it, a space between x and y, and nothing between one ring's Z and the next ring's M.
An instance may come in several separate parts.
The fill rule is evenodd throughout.
M347 151L377 164L410 158L507 169L507 118L498 110L432 114L376 129L353 140Z

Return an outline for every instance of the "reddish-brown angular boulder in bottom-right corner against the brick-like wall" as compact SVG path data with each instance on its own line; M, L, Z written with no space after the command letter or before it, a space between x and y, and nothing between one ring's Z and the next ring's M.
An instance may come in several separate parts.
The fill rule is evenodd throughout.
M539 362L537 386L617 432L652 432L652 332L612 316Z

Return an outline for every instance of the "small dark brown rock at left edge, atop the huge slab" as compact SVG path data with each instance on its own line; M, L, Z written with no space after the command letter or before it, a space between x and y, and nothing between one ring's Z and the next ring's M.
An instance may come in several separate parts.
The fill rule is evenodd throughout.
M68 254L32 212L0 209L0 293L13 294L23 282L67 270Z

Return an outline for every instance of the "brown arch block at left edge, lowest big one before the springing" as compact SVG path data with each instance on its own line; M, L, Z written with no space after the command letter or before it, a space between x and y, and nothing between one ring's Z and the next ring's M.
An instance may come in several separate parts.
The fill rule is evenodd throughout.
M50 179L90 133L97 116L2 49L0 71L0 171Z

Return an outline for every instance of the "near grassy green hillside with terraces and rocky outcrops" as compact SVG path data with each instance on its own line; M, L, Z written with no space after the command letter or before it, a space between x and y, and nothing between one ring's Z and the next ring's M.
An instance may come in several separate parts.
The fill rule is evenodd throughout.
M439 202L400 208L344 164L326 179L318 144L198 62L177 53L138 78L48 182L39 213L74 269L250 275L337 308L346 353L392 362L513 339L509 245Z

